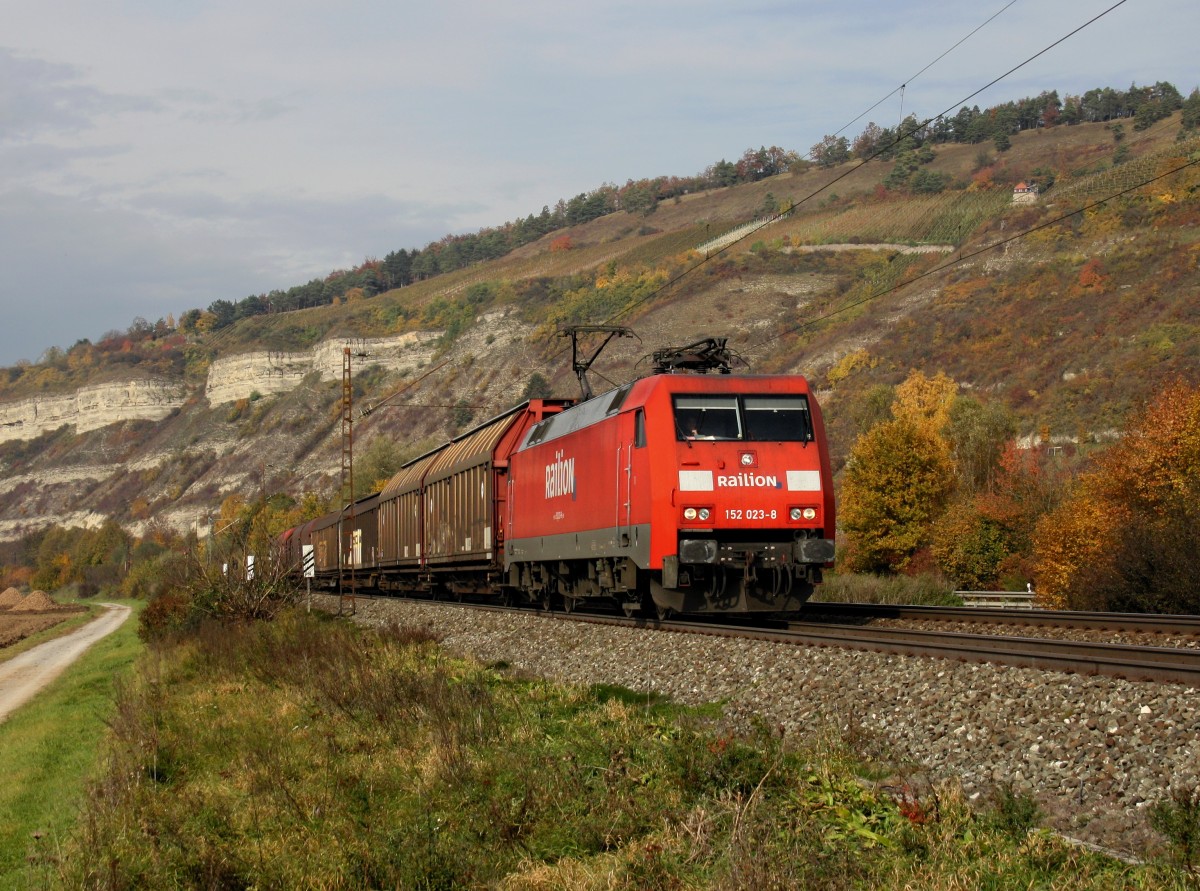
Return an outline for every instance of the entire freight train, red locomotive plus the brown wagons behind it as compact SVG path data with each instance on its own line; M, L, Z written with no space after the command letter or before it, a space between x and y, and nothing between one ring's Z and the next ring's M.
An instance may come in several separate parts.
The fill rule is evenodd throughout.
M328 587L349 574L356 587L545 608L799 609L834 556L808 383L731 375L724 341L655 360L655 373L594 399L589 363L576 361L583 402L532 400L485 421L353 509L289 530L286 558L299 570L313 545Z

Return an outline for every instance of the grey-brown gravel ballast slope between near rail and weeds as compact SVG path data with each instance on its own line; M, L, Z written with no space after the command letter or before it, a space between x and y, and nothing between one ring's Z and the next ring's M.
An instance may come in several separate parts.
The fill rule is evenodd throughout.
M337 598L322 605L337 608ZM926 657L670 634L360 599L355 618L428 628L446 650L569 683L612 683L678 701L721 701L803 737L833 729L864 754L1037 797L1064 835L1142 856L1150 807L1200 784L1200 706L1180 684Z

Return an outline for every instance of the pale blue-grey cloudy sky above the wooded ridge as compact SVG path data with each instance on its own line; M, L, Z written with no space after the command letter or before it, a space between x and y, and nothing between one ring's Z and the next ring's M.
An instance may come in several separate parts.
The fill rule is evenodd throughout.
M805 154L886 96L844 134L953 113L1115 2L0 0L0 366L604 183ZM1123 0L970 104L1187 95L1196 34L1195 0Z

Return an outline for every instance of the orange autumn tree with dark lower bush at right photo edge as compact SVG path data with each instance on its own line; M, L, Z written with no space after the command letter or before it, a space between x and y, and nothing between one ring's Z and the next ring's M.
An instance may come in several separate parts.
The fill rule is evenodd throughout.
M1169 384L1037 527L1055 606L1200 612L1200 388Z

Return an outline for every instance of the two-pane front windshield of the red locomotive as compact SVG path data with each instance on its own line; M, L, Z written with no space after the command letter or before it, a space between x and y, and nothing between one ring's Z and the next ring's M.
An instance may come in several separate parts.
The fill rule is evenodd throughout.
M676 396L678 439L810 442L812 423L803 395Z

